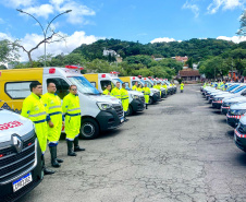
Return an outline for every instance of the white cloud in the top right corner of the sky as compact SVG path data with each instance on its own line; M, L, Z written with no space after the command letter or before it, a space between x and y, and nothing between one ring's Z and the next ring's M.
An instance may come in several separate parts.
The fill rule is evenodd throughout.
M222 10L233 10L245 4L245 0L213 0L207 8L209 14L214 14L220 8Z

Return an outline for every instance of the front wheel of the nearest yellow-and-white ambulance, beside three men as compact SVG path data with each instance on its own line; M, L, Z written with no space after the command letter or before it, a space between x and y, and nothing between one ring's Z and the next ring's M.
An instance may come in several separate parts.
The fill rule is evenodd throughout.
M99 134L99 126L91 118L82 119L81 136L84 140L96 139Z

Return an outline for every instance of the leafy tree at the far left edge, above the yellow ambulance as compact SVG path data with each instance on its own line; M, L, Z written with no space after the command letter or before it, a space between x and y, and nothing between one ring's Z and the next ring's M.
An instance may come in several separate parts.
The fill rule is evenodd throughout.
M15 43L13 44L8 39L0 40L0 63L19 60L19 47L15 45Z

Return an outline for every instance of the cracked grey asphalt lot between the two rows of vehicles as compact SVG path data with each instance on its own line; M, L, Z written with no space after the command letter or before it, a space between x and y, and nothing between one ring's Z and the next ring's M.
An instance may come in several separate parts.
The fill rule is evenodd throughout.
M96 140L81 140L86 152L76 157L66 156L61 140L62 167L21 201L246 201L246 155L199 85L128 119Z

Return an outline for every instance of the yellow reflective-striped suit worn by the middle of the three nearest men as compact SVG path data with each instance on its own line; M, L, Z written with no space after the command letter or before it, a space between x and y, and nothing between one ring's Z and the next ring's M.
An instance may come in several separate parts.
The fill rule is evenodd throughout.
M53 146L58 144L62 130L61 99L57 94L46 93L41 96L41 100L45 104L46 111L53 123L53 128L48 126L49 146Z

